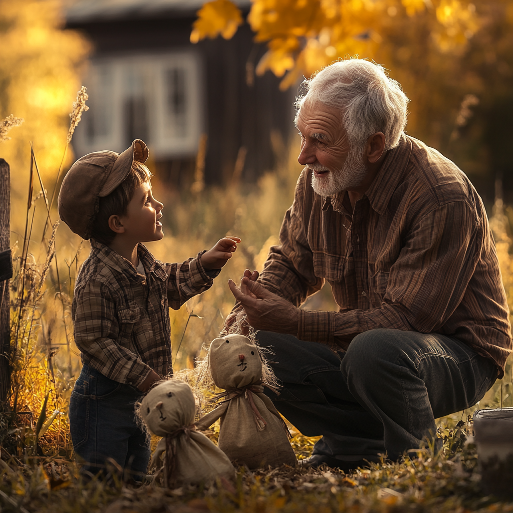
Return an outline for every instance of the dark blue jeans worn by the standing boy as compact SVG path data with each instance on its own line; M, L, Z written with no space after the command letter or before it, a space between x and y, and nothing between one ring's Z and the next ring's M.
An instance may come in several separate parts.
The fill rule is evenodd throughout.
M83 474L103 471L107 476L107 459L112 458L123 468L124 479L142 479L150 447L135 421L134 405L140 398L137 388L84 364L69 404L71 439Z

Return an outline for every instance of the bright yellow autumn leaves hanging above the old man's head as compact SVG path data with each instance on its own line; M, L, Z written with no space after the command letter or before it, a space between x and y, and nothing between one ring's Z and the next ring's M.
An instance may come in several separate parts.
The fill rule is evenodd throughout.
M255 41L268 51L257 74L284 76L286 89L339 57L373 57L383 34L405 17L431 18L431 37L442 52L463 47L479 28L476 8L465 0L253 0L247 21ZM191 33L191 42L221 34L229 39L242 13L229 0L207 2Z

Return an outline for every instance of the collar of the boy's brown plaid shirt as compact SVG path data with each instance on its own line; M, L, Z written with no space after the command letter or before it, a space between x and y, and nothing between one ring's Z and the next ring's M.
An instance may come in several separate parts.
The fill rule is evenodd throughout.
M143 280L137 270L129 262L126 258L122 257L119 253L109 248L109 246L96 241L95 239L90 239L91 243L91 253L95 255L96 258L101 260L105 265L110 268L122 271L129 278L132 278L135 281ZM156 278L165 281L167 279L167 273L164 269L162 262L155 260L153 255L148 251L146 246L142 243L139 243L137 247L137 256L143 262L146 273L153 273Z

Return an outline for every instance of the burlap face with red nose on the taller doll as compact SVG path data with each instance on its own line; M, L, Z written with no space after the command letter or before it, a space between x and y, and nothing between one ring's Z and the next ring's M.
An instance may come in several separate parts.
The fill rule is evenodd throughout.
M209 363L214 383L220 388L239 388L262 379L258 348L244 335L215 339L210 345Z

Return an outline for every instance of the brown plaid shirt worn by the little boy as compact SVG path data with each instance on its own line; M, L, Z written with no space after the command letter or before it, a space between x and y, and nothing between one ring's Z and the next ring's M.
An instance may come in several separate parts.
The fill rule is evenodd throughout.
M169 307L208 290L219 270L205 271L201 254L163 264L143 244L137 249L146 276L106 245L91 239L78 274L72 306L75 343L82 360L107 378L139 386L153 369L172 373Z

